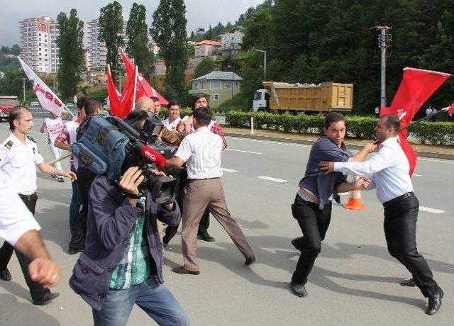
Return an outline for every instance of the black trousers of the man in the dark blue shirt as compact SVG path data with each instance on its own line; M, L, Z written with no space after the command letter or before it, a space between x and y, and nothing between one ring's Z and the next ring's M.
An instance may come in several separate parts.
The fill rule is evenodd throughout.
M297 268L292 275L292 283L305 284L311 273L314 262L321 252L321 242L325 239L326 231L331 222L331 201L326 203L323 210L319 204L304 201L298 195L292 205L292 215L297 219L303 232L301 254Z

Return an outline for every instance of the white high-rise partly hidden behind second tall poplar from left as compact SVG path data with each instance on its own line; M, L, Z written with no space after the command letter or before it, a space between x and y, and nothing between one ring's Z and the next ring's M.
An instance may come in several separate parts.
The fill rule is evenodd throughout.
M123 21L123 41L128 43L128 38L126 38L126 24L127 21ZM88 36L88 62L87 69L101 69L106 67L106 55L107 48L106 43L99 39L99 24L98 19L92 19L87 22L87 36Z

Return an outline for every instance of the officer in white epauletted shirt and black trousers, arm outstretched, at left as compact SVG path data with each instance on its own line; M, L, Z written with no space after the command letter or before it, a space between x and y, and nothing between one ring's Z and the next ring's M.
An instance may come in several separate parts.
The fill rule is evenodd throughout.
M73 172L62 172L44 163L44 159L38 152L38 147L32 137L28 136L33 128L33 119L28 108L16 106L9 115L9 128L11 135L0 145L0 176L10 189L18 193L23 203L31 213L35 213L36 200L36 169L46 174L65 176L75 179ZM11 280L7 266L13 247L4 242L0 249L0 277L6 281ZM56 298L59 293L51 293L39 283L33 282L28 274L30 260L21 252L16 251L23 276L26 279L34 305L45 305Z

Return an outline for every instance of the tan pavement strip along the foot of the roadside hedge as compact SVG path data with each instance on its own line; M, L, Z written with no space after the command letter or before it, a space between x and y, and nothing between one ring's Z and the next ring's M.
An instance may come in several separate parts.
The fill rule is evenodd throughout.
M278 130L263 130L255 129L254 135L250 134L250 129L247 128L230 128L228 125L222 126L223 132L231 137L255 138L260 140L273 140L276 142L296 142L301 144L311 145L319 135L299 134L299 133L284 133ZM356 140L354 138L346 138L348 147L353 150L360 150L370 140ZM454 147L450 146L433 146L411 143L413 148L418 153L419 157L432 157L436 159L454 159Z

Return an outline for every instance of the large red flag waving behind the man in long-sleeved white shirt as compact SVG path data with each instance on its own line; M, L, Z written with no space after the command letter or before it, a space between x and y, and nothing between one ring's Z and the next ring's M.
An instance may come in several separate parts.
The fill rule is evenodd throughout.
M404 77L392 100L391 106L380 109L380 116L394 114L399 117L401 129L405 128L421 106L443 84L450 74L416 68L404 68ZM416 152L406 140L406 129L399 132L399 141L410 164L410 176L416 168Z

